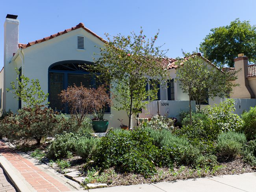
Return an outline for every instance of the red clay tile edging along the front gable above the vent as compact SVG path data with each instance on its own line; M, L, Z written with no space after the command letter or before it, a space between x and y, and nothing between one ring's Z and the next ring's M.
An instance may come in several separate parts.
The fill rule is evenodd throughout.
M65 29L64 31L61 31L61 32L58 32L56 34L52 34L48 37L45 37L43 39L39 39L39 40L35 40L33 42L29 42L28 44L22 44L22 43L19 43L19 48L22 48L22 49L25 49L26 47L30 47L31 45L34 45L36 43L41 43L41 42L44 42L44 41L47 41L47 40L50 40L52 38L55 38L57 36L60 36L62 34L65 34L65 33L68 33L69 31L73 31L75 29L79 29L79 28L82 28L84 29L85 31L91 33L93 36L95 36L96 38L100 39L101 41L103 41L104 43L106 43L106 40L104 40L103 38L101 38L100 36L98 36L96 33L93 33L90 29L86 28L84 26L83 23L80 23L78 25L76 25L76 27L71 27L70 29Z

